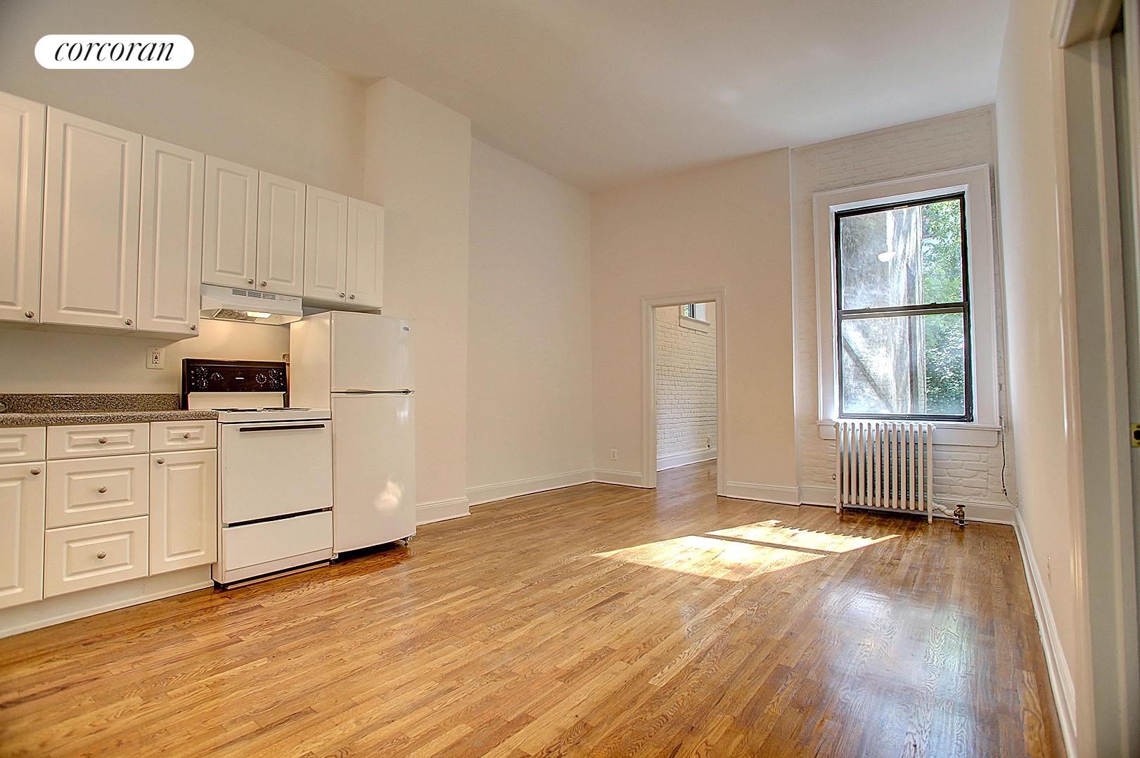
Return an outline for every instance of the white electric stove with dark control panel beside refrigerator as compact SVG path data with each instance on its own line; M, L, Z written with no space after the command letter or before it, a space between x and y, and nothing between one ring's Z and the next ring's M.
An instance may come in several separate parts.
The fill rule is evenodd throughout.
M182 361L182 406L218 411L220 585L332 559L332 415L287 399L285 364Z

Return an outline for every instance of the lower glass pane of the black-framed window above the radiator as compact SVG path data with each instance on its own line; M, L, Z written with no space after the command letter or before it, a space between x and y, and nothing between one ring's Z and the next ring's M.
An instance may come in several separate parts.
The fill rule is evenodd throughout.
M962 313L844 319L842 413L964 416L964 324Z

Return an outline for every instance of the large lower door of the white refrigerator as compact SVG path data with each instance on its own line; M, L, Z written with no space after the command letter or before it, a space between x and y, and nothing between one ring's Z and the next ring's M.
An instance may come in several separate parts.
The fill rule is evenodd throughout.
M415 396L333 396L333 549L416 532Z

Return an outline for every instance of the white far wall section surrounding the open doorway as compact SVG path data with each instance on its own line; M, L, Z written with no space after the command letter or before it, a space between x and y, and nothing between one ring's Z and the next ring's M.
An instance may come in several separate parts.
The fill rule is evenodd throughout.
M640 481L642 298L724 287L728 408L720 413L727 447L720 464L730 483L752 494L797 498L788 181L788 150L775 150L594 196L598 466Z

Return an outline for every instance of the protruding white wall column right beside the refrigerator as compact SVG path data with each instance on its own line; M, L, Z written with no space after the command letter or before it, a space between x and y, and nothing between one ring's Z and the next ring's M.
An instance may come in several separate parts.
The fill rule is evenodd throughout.
M384 205L384 312L416 320L416 497L466 511L471 121L368 88L365 197Z

